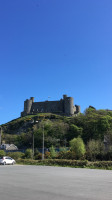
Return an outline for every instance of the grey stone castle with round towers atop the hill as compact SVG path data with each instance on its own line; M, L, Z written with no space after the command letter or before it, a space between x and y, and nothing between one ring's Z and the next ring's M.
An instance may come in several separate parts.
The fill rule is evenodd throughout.
M74 105L73 97L63 95L59 101L34 102L34 97L24 101L24 111L21 117L37 113L54 113L65 116L73 116L80 113L80 106Z

